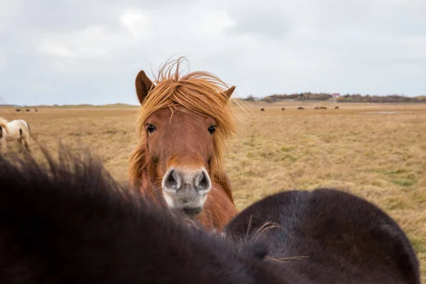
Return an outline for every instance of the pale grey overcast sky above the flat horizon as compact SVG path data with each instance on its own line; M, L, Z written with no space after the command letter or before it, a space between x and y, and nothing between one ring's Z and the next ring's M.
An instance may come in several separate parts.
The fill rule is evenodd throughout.
M0 0L7 104L138 104L179 55L239 97L426 94L426 1Z

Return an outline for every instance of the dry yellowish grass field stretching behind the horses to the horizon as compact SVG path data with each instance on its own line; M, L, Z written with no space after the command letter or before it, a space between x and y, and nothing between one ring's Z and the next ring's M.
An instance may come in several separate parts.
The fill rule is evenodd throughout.
M301 105L306 109L297 110ZM321 105L328 109L314 110ZM349 190L399 222L415 246L426 281L426 105L339 104L340 109L333 109L328 103L256 102L250 107L252 113L226 153L239 209L281 190ZM58 140L75 151L92 148L123 181L127 157L137 141L136 111L0 109L0 116L26 119L38 141L52 150L58 148ZM16 148L15 144L9 146ZM33 153L40 155L38 146L33 145Z

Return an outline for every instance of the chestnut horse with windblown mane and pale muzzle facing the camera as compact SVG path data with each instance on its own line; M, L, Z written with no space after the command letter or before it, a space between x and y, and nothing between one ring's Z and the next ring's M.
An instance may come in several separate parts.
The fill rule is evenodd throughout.
M209 72L181 76L181 59L163 65L155 82L143 70L136 76L142 107L129 178L172 211L220 231L237 213L223 165L225 140L235 131L235 87Z

